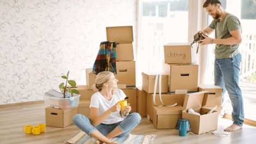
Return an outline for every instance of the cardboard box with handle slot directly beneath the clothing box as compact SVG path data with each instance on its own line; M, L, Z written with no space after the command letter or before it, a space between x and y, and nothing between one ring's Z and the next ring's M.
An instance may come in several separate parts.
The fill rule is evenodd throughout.
M163 71L169 75L170 92L175 90L198 91L198 65L163 64Z

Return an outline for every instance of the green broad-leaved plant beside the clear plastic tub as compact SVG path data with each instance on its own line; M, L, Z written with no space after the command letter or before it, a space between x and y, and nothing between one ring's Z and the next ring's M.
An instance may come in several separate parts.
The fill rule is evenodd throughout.
M66 73L66 76L65 74L62 74L61 77L66 80L65 83L59 84L59 89L63 94L63 98L73 97L74 93L79 95L79 91L75 89L76 88L75 80L69 80L69 71L68 73Z

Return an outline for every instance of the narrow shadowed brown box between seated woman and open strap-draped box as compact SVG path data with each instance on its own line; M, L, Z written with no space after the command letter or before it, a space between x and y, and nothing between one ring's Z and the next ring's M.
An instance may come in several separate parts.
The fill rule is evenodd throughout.
M147 117L147 92L141 87L137 88L137 112L142 117Z

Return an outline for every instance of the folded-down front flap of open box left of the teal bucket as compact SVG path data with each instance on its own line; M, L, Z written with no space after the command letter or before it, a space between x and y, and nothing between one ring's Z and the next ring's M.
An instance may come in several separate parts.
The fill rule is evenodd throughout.
M157 115L180 115L182 113L182 106L175 107L154 107Z

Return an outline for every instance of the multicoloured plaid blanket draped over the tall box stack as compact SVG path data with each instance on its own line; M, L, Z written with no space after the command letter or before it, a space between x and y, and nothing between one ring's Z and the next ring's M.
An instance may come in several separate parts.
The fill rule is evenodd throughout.
M93 72L98 74L102 71L111 71L117 74L115 66L116 45L114 41L103 41L100 43L100 49L93 65Z

